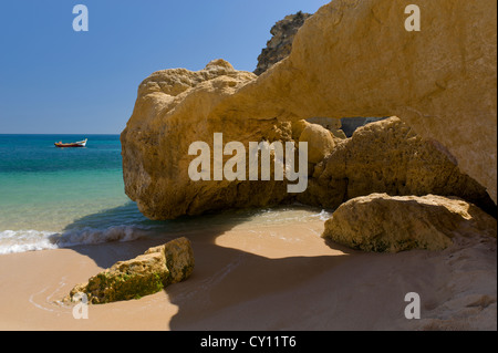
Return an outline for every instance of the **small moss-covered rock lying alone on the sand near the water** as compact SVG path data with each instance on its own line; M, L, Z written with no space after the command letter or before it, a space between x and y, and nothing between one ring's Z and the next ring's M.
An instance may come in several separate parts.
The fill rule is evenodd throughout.
M72 301L79 293L85 293L93 304L139 299L186 280L194 264L190 241L175 239L132 260L116 262L90 278L87 283L75 285L65 301Z

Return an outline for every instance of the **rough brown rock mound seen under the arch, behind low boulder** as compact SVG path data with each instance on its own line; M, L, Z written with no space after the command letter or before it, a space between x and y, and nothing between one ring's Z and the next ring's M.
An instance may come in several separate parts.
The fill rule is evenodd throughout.
M315 168L298 200L336 208L373 193L458 196L491 211L486 189L463 174L445 149L415 134L398 117L360 127L353 137L338 141Z

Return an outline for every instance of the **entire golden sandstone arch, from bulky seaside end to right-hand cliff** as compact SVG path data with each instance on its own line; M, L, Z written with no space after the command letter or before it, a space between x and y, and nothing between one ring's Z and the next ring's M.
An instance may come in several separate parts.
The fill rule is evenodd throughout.
M126 194L153 219L276 205L292 198L281 181L189 180L188 146L196 141L212 146L214 133L246 146L299 141L305 128L300 121L314 116L398 115L487 187L496 201L496 1L417 4L423 30L406 32L405 1L334 0L305 21L291 54L259 77L235 71L222 60L196 73L154 73L141 85L122 134ZM334 145L341 148L336 141ZM414 155L409 150L401 153L400 160L408 160L406 156ZM391 178L377 172L386 164L375 162L372 170L378 174L364 174L374 189L382 178ZM418 194L417 183L436 188L442 183L400 173L393 174L394 193ZM335 176L325 173L320 179L326 178ZM350 177L342 180L349 183ZM342 187L349 191L340 191L341 203L355 195L353 190L369 191L356 181L354 188Z

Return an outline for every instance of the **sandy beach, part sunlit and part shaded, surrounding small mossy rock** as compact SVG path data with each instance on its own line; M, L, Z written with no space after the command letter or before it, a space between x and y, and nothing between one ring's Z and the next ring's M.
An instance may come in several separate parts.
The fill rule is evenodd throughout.
M320 238L323 221L168 235L0 256L1 330L496 330L496 239L437 252L363 253ZM176 236L193 242L185 282L75 320L61 300L118 260ZM404 301L417 292L422 319Z

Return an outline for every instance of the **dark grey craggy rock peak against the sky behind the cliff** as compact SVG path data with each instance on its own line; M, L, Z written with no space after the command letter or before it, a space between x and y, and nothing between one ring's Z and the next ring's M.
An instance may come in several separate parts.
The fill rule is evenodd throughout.
M300 11L295 14L287 15L271 28L270 33L273 37L267 42L267 48L258 56L258 66L255 70L257 75L262 74L272 65L289 56L295 33L298 33L298 30L309 17L311 14Z

